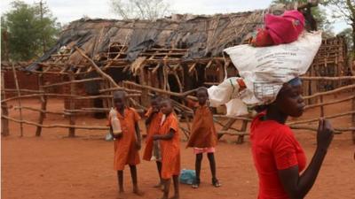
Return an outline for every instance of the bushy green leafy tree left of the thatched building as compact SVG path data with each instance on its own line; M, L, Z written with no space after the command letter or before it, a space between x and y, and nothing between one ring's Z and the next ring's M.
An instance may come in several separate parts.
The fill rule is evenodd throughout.
M12 10L4 13L1 22L1 54L5 58L8 52L12 60L30 60L43 54L59 33L59 24L42 1L34 5L12 2Z

